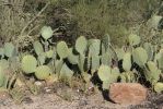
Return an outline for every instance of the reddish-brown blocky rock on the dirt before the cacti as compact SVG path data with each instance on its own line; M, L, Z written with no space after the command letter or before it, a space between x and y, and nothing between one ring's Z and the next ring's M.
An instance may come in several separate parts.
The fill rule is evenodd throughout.
M116 104L137 105L145 100L148 89L138 83L113 83L109 98Z

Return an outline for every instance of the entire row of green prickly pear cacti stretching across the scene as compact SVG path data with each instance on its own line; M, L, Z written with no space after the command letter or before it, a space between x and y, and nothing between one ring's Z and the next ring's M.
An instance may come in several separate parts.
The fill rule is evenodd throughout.
M109 35L102 39L80 36L72 47L68 47L63 40L56 46L49 45L48 40L53 36L49 26L44 26L40 35L44 40L33 43L33 55L18 52L12 43L0 48L0 86L5 81L3 71L14 68L13 63L21 60L22 71L25 74L33 73L40 81L55 75L53 78L70 83L74 73L79 72L85 82L90 82L97 73L103 88L108 89L112 83L138 82L139 76L144 76L144 81L150 82L155 92L163 90L163 48L155 50L152 44L141 43L138 35L129 35L123 48L114 48Z

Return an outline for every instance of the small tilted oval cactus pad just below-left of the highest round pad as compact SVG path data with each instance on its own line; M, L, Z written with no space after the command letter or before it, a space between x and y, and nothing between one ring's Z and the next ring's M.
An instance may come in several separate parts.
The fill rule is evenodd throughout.
M37 56L44 52L43 46L39 41L34 41L33 46L34 46L34 50L37 53Z

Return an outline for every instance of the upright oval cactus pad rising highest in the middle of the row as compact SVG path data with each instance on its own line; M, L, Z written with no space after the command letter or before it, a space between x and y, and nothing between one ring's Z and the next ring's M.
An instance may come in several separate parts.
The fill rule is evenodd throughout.
M86 51L88 40L84 36L80 36L75 41L75 50L79 53L84 53Z

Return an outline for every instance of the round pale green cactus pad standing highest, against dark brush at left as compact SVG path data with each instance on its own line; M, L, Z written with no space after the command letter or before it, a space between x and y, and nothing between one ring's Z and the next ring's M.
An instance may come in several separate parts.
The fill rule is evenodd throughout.
M47 40L48 38L50 38L54 34L53 29L50 26L44 26L40 31L42 37Z

